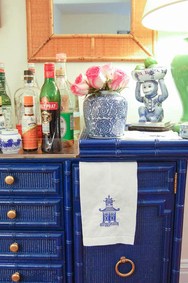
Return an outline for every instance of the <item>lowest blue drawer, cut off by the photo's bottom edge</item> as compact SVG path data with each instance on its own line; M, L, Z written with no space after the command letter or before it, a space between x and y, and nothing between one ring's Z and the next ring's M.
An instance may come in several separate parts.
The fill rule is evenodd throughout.
M18 282L65 283L64 264L0 263L1 283L10 283L11 276L19 273Z

